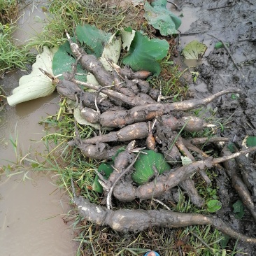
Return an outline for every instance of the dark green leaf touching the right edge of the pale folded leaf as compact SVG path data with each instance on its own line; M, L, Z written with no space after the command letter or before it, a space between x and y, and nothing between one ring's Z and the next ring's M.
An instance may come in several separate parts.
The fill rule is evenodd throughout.
M74 40L75 38L71 38ZM73 57L69 42L66 41L59 47L52 59L52 71L55 76L62 75L64 72L72 71L72 64L75 64L76 59ZM84 74L84 76L75 76L76 79L86 82L86 72L80 64L77 65L76 73ZM63 79L63 77L59 77Z

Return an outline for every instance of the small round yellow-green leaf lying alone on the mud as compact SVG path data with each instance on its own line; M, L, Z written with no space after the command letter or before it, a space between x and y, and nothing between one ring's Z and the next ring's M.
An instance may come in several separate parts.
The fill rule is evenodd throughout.
M199 59L201 58L207 50L207 46L204 43L199 43L195 40L187 43L183 49L183 56L186 59Z

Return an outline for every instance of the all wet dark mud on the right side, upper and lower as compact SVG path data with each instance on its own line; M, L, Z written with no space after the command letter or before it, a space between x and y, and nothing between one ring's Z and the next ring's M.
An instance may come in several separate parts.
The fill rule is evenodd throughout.
M230 141L241 146L246 135L256 136L255 1L192 0L190 2L176 1L176 3L181 6L181 12L185 8L190 8L190 10L192 8L194 15L198 17L190 29L183 31L180 37L183 39L186 36L193 36L194 40L208 46L204 63L196 68L199 78L196 83L190 84L190 92L195 98L202 98L225 90L227 87L241 89L239 97L229 95L211 104L212 109L218 109L216 116L222 118L220 122L228 123L224 131L219 131L219 135L226 136ZM229 43L229 50L238 69L225 48L214 49L213 46L220 40ZM255 157L252 157L252 164L255 165L253 158ZM256 183L256 180L254 182ZM256 225L248 213L242 221L234 218L230 206L234 204L238 196L230 188L230 181L225 173L219 173L216 185L219 187L219 197L222 201L222 210L218 212L219 217L229 222L237 231L248 236L255 236ZM242 249L243 253L256 255L256 248L250 248L241 243L236 249L239 248L246 248Z

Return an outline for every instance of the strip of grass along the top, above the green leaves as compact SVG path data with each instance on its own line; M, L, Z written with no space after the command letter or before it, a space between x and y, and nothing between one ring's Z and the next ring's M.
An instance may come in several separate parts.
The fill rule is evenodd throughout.
M131 6L126 10L106 8L103 0L50 1L48 6L48 22L43 33L27 45L28 48L42 48L62 45L66 41L65 29L71 33L78 24L94 24L98 29L114 31L120 27L136 24L138 10ZM129 13L129 15L127 15Z

